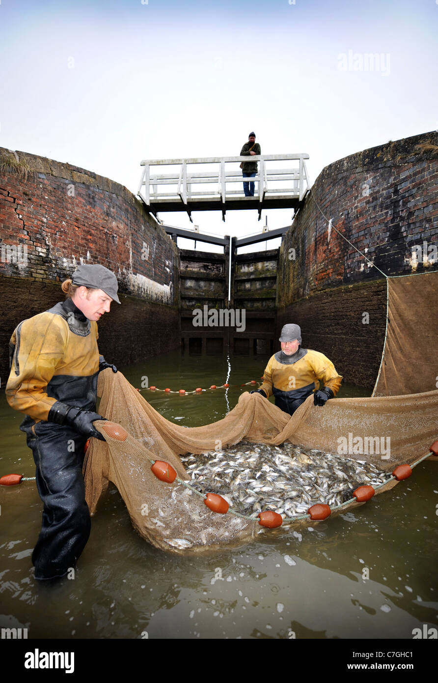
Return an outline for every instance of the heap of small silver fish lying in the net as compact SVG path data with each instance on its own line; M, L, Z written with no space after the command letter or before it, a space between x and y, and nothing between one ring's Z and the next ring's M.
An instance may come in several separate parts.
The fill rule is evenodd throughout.
M391 476L365 460L288 442L279 447L242 441L220 454L189 454L181 460L196 490L227 495L236 512L248 516L269 509L294 517L314 503L340 505L357 486L378 486Z

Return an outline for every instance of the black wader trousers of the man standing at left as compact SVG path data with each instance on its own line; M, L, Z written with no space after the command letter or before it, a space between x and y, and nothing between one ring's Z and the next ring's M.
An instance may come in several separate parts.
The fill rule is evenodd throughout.
M90 534L82 474L86 437L63 425L26 422L21 429L32 449L38 493L44 503L32 563L35 579L54 579L74 568Z

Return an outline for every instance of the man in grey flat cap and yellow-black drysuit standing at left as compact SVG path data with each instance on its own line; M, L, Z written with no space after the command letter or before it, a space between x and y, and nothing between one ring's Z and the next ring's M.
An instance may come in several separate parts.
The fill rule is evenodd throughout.
M111 270L81 265L62 283L67 295L48 311L23 320L10 341L6 398L25 413L20 430L33 451L36 483L44 503L42 528L32 553L35 579L57 579L74 568L91 522L82 475L87 438L104 438L93 422L98 374L106 363L98 351L97 321L117 296Z

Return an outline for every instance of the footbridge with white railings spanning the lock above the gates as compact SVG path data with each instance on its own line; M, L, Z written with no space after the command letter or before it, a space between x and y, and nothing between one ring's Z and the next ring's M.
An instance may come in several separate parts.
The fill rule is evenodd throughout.
M192 221L192 211L220 210L224 220L227 209L257 209L260 220L263 209L300 206L310 189L308 158L308 154L259 154L142 161L138 197L155 216L186 211ZM242 178L239 163L248 161L259 162L254 178ZM281 167L281 162L287 162L287 167ZM255 183L254 197L245 197L244 181Z

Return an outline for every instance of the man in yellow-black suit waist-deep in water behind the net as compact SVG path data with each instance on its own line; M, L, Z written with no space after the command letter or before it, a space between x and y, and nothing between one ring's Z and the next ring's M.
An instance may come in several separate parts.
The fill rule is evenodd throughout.
M274 394L275 404L284 413L293 415L313 393L315 406L324 406L339 391L342 377L323 353L301 348L301 329L284 325L280 335L281 351L269 359L263 374L263 384L257 391L265 398ZM316 389L316 384L322 389Z

